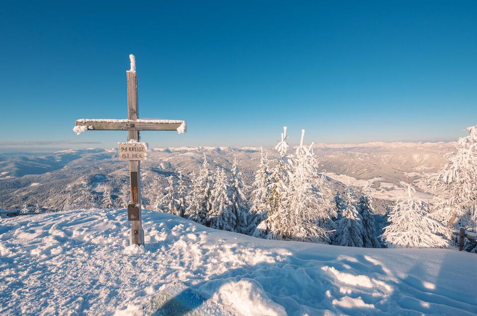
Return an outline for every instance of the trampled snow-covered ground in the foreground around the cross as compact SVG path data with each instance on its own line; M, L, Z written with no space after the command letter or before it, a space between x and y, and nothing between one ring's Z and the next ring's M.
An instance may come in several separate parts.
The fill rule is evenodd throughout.
M0 314L477 314L475 254L271 241L152 211L143 220L145 248L128 246L125 210L2 220Z

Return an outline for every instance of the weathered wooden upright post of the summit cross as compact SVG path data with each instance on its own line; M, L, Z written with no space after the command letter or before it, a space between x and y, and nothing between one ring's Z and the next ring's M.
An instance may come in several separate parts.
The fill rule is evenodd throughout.
M127 118L129 120L138 119L138 101L137 101L137 75L135 69L126 71L127 78ZM128 141L139 141L138 130L128 130ZM138 220L131 221L131 235L129 244L144 244L144 231L142 229L141 217L141 162L129 161L129 178L131 184L131 202L128 206L130 209L139 211Z

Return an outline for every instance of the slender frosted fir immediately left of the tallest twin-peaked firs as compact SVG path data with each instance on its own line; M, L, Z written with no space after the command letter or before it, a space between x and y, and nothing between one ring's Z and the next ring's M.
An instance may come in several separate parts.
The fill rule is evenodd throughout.
M250 209L249 225L246 234L252 235L257 226L265 220L270 208L270 177L268 156L261 149L260 165L255 172L252 184L252 207Z

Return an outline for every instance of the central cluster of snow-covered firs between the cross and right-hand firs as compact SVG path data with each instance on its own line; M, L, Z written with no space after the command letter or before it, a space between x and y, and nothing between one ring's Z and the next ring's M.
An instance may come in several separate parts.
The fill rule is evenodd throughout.
M333 193L326 176L318 171L313 144L290 152L286 128L275 149L278 159L261 153L255 180L249 188L241 178L236 159L230 174L221 167L202 166L191 174L191 184L179 175L168 178L165 193L156 197L154 209L189 218L205 226L267 239L298 240L360 247L380 247L371 206L370 188L347 194Z

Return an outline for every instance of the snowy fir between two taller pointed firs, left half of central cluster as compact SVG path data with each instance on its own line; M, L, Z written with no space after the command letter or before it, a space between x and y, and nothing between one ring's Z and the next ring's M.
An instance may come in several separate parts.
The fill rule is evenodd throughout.
M210 211L205 217L205 224L223 231L233 232L237 228L237 217L232 209L227 177L225 171L219 167L214 174L214 183L210 192Z

